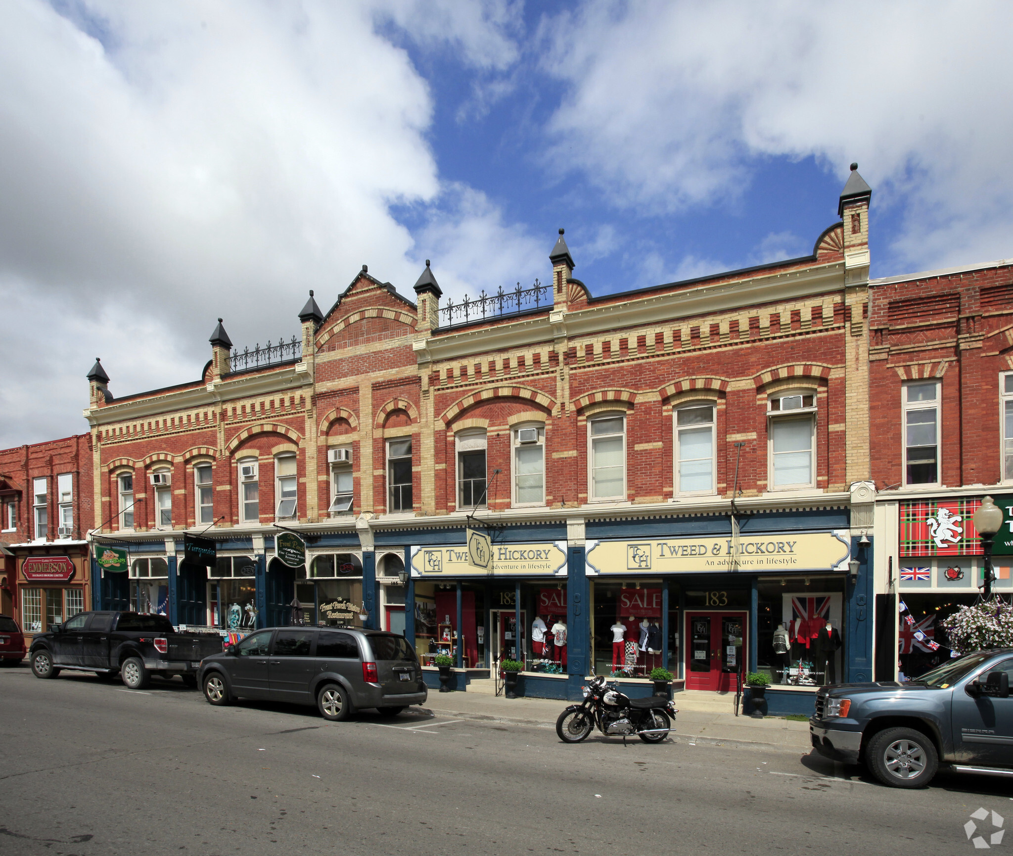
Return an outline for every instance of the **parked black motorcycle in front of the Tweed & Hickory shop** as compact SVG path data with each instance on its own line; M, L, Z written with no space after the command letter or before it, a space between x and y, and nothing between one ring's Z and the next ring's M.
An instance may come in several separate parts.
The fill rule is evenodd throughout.
M583 691L583 701L571 704L556 720L556 733L563 743L587 740L598 727L606 736L636 734L648 744L661 743L672 730L679 710L664 696L631 699L599 675Z

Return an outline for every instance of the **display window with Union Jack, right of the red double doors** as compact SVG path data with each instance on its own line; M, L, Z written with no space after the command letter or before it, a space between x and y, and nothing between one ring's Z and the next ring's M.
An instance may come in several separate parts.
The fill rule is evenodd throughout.
M843 679L843 577L765 579L757 592L758 670L774 684Z

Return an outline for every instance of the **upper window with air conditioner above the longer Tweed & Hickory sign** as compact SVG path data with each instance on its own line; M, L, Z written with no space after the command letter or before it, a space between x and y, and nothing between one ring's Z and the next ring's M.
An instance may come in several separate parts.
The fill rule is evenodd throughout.
M774 490L815 484L815 409L811 390L768 399L769 484Z

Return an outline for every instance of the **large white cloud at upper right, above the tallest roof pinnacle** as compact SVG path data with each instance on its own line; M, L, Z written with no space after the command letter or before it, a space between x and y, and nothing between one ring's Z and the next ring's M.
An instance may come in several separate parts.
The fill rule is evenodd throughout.
M843 185L857 160L874 205L904 209L889 263L1009 255L1007 3L598 2L543 34L568 85L556 167L619 206L732 202L770 155Z

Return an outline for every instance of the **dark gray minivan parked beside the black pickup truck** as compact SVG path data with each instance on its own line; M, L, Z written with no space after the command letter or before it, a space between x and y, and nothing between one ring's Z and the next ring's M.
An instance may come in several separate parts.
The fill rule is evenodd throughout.
M403 636L350 627L257 630L206 657L200 682L215 705L236 698L315 704L334 721L360 707L396 716L428 695L418 657Z

